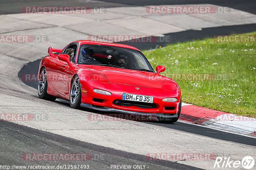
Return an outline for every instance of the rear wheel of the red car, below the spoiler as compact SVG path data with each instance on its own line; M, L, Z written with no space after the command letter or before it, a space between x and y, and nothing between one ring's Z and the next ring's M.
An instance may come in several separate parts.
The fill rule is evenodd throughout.
M48 84L47 84L47 77L46 77L46 69L45 67L43 67L43 69L40 72L40 76L38 79L38 86L37 86L37 92L38 92L38 97L40 99L44 99L44 100L50 100L50 101L55 101L57 97L49 95L47 93L47 88L48 88Z

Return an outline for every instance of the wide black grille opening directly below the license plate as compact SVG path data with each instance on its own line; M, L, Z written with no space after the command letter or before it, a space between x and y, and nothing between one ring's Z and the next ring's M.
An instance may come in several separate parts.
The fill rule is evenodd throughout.
M113 104L118 106L137 106L140 108L156 108L155 103L134 102L126 100L114 100Z

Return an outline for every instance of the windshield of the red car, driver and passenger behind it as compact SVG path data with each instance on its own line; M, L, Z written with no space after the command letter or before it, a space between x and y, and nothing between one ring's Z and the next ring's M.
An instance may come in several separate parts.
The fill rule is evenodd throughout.
M115 46L81 45L77 64L154 72L152 66L140 51Z

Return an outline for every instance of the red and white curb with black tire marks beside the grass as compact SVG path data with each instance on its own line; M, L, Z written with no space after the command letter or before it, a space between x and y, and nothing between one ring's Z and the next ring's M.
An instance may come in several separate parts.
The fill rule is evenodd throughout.
M182 103L180 121L256 136L256 119Z

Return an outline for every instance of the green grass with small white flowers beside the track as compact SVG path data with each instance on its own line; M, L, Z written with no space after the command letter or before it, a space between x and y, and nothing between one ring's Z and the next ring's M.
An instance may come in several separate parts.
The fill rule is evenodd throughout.
M256 36L256 32L243 35ZM255 50L256 43L220 43L208 38L171 44L144 54L154 68L165 66L166 70L161 74L167 77L184 73L215 76L210 81L173 78L180 85L182 102L255 117Z

